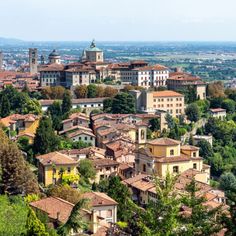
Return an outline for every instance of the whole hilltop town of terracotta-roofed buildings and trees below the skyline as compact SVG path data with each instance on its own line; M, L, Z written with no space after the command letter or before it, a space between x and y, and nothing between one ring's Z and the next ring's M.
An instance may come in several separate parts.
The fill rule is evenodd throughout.
M236 234L234 88L94 40L72 63L3 60L3 235Z

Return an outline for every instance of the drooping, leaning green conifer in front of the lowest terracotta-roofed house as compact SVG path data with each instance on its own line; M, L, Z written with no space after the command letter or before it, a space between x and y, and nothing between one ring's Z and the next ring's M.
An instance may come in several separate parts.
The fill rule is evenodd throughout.
M86 206L87 202L88 199L81 199L75 204L67 222L58 228L59 235L68 236L72 230L78 233L79 230L87 229L87 222L80 215L80 211Z

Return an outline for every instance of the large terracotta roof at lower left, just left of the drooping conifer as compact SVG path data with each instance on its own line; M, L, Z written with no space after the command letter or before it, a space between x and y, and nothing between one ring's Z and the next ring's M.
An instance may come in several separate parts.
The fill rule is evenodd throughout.
M35 202L31 202L30 206L40 209L48 214L48 217L65 223L74 207L74 204L67 202L61 198L48 197Z

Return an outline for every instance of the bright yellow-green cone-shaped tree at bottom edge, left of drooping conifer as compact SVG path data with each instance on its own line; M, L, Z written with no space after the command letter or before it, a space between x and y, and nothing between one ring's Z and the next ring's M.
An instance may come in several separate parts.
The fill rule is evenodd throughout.
M26 220L26 236L49 236L44 224L37 218L35 212L29 208Z

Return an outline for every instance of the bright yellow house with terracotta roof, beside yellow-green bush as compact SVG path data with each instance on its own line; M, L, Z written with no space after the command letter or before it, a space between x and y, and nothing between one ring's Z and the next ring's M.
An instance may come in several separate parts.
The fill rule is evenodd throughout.
M64 175L78 174L78 161L60 152L50 152L37 157L39 162L39 182L45 186L56 184Z

